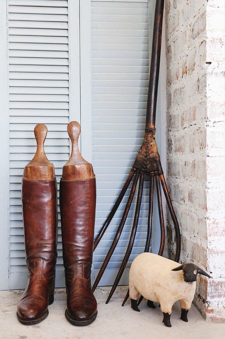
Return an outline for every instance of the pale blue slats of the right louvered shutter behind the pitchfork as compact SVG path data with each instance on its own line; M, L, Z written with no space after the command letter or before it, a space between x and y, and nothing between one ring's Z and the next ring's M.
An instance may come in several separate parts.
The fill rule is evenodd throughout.
M144 136L149 78L148 1L91 2L93 165L97 180L96 235L130 172ZM145 181L136 240L129 266L144 252L149 182ZM130 190L94 252L94 277L115 236ZM137 191L122 235L100 285L110 285L129 242ZM154 224L157 217L154 217Z

